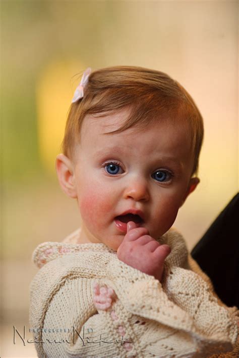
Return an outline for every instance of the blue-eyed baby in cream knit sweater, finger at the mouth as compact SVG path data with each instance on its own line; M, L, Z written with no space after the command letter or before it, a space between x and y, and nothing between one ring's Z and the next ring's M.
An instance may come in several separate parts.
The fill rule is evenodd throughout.
M232 350L231 311L171 229L199 183L202 140L198 108L166 74L126 66L85 71L56 158L61 187L77 199L80 230L33 255L41 267L30 310L39 357Z

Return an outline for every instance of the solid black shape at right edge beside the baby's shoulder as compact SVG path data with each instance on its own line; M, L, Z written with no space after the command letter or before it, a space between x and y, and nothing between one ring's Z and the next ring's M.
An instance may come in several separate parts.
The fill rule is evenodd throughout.
M211 278L216 294L229 307L239 307L239 193L227 204L192 250Z

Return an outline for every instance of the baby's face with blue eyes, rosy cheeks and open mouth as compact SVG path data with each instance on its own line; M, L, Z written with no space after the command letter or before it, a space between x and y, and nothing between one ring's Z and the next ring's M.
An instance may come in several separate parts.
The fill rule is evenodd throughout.
M143 130L104 134L118 129L127 116L127 110L103 118L87 116L74 158L81 239L114 250L129 221L147 228L153 238L163 235L192 181L189 128L161 120Z

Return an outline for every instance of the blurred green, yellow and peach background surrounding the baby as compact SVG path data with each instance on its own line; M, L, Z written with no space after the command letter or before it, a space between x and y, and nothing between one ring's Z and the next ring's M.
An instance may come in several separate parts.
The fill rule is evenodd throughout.
M1 1L2 357L36 357L27 333L34 248L79 226L54 159L86 67L159 69L192 95L205 123L201 183L175 227L191 250L238 191L237 1ZM79 77L78 77L79 78Z

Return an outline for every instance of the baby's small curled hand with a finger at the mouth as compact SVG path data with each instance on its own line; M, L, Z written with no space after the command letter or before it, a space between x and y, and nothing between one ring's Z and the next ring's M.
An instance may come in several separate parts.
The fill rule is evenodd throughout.
M127 234L117 250L117 257L127 265L161 281L164 260L170 251L168 245L160 245L153 239L146 228L137 228L131 221L127 225Z

